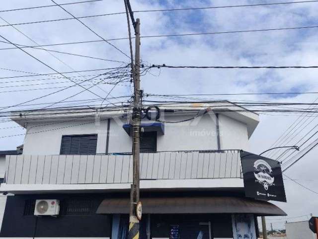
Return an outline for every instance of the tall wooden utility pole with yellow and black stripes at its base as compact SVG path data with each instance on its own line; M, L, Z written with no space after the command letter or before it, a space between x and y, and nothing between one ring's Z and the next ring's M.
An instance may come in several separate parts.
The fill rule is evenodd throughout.
M139 202L139 156L140 156L140 19L135 23L135 69L133 125L133 184L130 187L129 239L139 239L139 219L137 203Z

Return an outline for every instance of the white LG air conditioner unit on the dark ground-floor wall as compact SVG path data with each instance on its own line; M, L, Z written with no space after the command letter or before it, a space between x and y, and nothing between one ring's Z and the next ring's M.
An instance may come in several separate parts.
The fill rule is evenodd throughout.
M40 199L35 201L34 215L56 216L60 212L60 201L57 199Z

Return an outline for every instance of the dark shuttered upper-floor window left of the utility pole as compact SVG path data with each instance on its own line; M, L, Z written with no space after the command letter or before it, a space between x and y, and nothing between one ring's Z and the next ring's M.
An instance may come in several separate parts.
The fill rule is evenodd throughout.
M63 135L60 154L96 154L97 134Z

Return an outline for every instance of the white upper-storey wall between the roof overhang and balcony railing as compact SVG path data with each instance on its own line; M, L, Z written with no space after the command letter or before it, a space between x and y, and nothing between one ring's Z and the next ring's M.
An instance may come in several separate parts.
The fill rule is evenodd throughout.
M163 120L178 121L191 117L191 115L169 115L164 117ZM29 123L27 126L28 134L24 140L23 154L60 154L62 135L94 133L98 134L96 153L105 153L107 120L88 123L91 121L90 119L90 121L67 121L63 123ZM144 121L147 122L148 120ZM111 119L108 152L131 152L132 138L123 129L124 123L127 123L127 119ZM246 124L222 115L219 116L219 124L221 149L247 149ZM206 114L202 118L182 123L165 123L164 127L164 135L158 136L158 151L218 149L216 117L214 114Z

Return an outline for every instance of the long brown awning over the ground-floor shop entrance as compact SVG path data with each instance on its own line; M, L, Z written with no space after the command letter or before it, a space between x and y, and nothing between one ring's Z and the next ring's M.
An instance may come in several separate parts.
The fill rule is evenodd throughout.
M252 213L257 216L286 216L274 204L239 197L173 197L143 198L143 213L195 214L195 213ZM97 214L128 214L128 198L107 198L99 205Z

